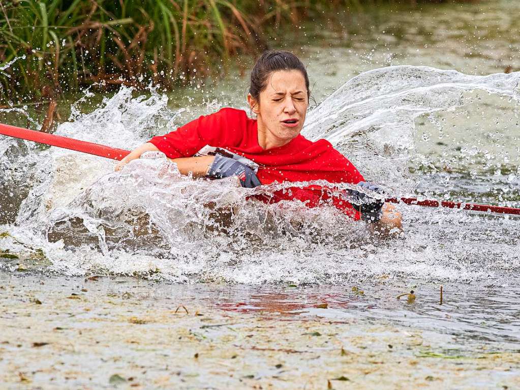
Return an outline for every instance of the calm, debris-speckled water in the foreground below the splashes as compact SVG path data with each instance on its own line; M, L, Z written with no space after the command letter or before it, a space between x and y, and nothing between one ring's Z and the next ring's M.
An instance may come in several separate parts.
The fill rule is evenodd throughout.
M440 305L431 288L413 303L384 284L353 292L1 280L6 388L470 389L520 380L520 354L509 349L518 320L492 288L446 286ZM491 327L502 342L488 339Z

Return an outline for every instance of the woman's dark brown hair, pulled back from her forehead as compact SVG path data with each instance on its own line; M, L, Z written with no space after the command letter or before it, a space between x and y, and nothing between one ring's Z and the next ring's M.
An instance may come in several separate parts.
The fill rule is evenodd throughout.
M307 88L307 98L310 99L309 76L307 69L300 58L290 51L267 50L256 60L251 71L251 84L249 93L257 101L260 101L260 93L267 87L267 79L272 72L279 70L297 70L302 72Z

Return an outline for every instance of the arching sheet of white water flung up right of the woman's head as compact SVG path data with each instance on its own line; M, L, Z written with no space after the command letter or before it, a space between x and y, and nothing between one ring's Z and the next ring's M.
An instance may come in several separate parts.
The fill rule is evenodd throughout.
M375 69L354 77L310 111L302 134L328 139L365 176L403 192L414 188L407 171L420 116L434 120L436 112L465 106L475 90L518 102L519 88L520 72L475 76L430 67Z

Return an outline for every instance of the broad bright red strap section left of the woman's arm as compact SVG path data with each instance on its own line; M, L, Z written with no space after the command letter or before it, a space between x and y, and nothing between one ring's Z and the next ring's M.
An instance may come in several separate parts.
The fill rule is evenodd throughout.
M108 146L62 137L55 134L35 132L34 130L29 130L27 128L4 125L2 123L0 123L0 134L9 137L27 139L28 141L40 142L40 144L94 154L112 160L122 160L128 153L130 153L128 150L110 148Z

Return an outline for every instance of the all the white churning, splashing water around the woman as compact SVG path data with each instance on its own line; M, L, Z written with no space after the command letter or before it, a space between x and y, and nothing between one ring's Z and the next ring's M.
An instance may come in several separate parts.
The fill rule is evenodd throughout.
M488 118L481 112L473 122L464 114L465 127L457 126L457 131L446 123L472 107L515 118L519 81L518 72L469 76L426 67L376 69L354 77L311 110L303 134L327 138L365 177L399 195L433 189L454 199L464 188L461 193L471 201L490 191L471 186L475 177L487 177L492 170L498 183L492 185L509 198L491 191L485 199L518 205L517 125L504 127L493 123L495 114ZM56 134L131 149L194 114L219 108L172 111L167 97L153 88L150 97L134 97L132 88L121 87L82 114L80 105L91 94L87 91L73 105L69 121ZM421 128L425 119L430 129ZM485 136L499 125L503 138ZM483 135L483 141L453 151L428 139L435 132L456 139L462 128L474 140ZM439 166L447 164L448 154L451 171L443 171ZM474 161L479 155L486 163ZM466 173L473 177L464 173L470 165ZM43 253L38 258L45 262L34 260L35 267L60 274L342 284L381 275L503 280L520 269L515 218L401 207L405 231L385 241L370 237L362 223L330 207L248 200L258 191L290 191L288 186L249 190L233 179L194 180L181 176L161 153L147 154L114 173L109 160L2 138L0 167L0 223L5 224L0 231L8 233L0 238L0 248L33 260L35 253ZM445 185L439 177L447 178ZM1 266L15 269L18 263Z

